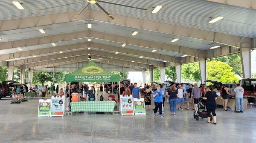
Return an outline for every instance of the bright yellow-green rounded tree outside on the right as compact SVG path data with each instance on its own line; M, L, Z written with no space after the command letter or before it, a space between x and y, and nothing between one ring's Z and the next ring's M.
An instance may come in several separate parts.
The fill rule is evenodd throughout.
M238 77L234 76L233 68L221 61L207 62L207 79L217 80L222 83L237 83Z

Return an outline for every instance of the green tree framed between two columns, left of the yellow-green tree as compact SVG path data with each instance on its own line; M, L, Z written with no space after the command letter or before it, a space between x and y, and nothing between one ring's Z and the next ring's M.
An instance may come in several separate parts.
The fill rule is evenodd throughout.
M199 63L186 63L181 65L181 78L185 82L198 82L201 80Z

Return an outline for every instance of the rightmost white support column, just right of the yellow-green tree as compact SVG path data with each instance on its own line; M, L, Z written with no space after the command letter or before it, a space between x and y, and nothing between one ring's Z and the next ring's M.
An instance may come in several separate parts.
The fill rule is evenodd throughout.
M251 56L250 56L250 48L241 48L241 62L242 62L242 69L243 69L243 75L244 78L250 78L251 77Z

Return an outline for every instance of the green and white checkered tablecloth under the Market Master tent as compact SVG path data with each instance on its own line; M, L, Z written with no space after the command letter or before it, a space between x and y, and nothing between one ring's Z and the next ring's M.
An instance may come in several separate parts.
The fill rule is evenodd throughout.
M71 102L72 112L113 112L115 101L80 101Z

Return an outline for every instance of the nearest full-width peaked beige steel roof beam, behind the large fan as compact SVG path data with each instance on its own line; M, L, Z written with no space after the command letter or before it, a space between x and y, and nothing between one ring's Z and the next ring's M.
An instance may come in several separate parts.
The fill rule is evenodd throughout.
M0 21L0 31L23 29L35 26L46 26L55 23L66 23L71 22L72 17L76 16L77 11L50 14L38 17L28 17L13 20L3 20ZM191 37L199 40L208 40L216 43L221 43L227 46L239 47L239 41L241 37L223 34L214 31L206 31L199 29L192 29L182 26L171 25L167 23L154 22L151 20L139 19L134 17L122 16L118 14L112 14L116 17L116 20L112 21L109 17L106 17L105 13L102 11L95 10L84 10L77 20L99 20L102 22L108 22L113 24L118 24L122 26L128 26L136 29L150 30L156 32L162 32L167 34L173 34L177 36ZM246 40L248 37L245 37Z

